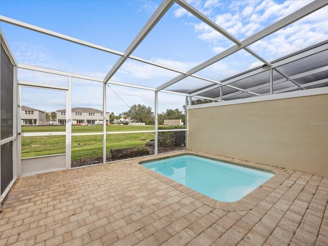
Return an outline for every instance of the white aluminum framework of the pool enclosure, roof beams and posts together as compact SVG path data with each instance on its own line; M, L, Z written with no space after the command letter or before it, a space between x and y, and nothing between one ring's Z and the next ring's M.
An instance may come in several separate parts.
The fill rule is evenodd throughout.
M189 13L191 13L192 15L194 15L195 17L197 17L198 19L200 19L203 23L206 23L207 25L209 25L210 27L212 27L214 30L216 30L217 32L219 32L220 34L222 34L223 36L227 37L229 40L231 40L232 42L235 43L234 46L230 47L229 49L219 53L218 55L213 56L212 58L208 59L207 61L204 61L203 63L199 64L198 66L195 66L194 68L190 69L189 71L181 71L179 69L176 68L171 68L169 66L165 66L165 65L161 65L158 63L154 63L153 61L147 60L147 59L143 59L140 57L136 57L131 55L133 53L133 51L138 47L138 45L142 42L142 40L151 32L152 28L155 27L155 25L159 22L160 18L162 16L164 16L166 14L166 12L174 5L177 4L180 7L182 7L183 9L187 10ZM16 73L17 73L17 68L20 69L27 69L27 70L32 70L32 71L38 71L38 72L45 72L45 73L50 73L50 74L57 74L57 75L63 75L63 76L67 76L68 77L68 87L60 87L60 86L50 86L50 85L44 85L44 84L39 84L39 83L33 83L30 81L17 81L17 84L19 84L20 86L30 86L30 87L36 87L36 88L45 88L45 89L57 89L57 90L65 90L67 91L66 93L66 109L67 109L67 115L66 115L66 132L61 132L61 133L53 133L53 135L66 135L66 168L70 169L71 165L70 165L70 159L71 159L71 137L74 135L99 135L99 134L103 134L103 163L106 163L106 135L107 134L116 134L117 132L107 132L106 131L106 84L112 84L112 85L118 85L118 86L125 86L125 87L131 87L131 88L136 88L136 89L141 89L141 90L149 90L149 91L153 91L154 92L154 103L155 103L155 129L151 130L151 131L130 131L130 132L119 132L119 133L123 133L123 134L127 134L127 133L136 133L136 132L154 132L155 133L155 155L158 154L157 152L157 134L158 132L161 132L163 130L158 130L158 126L157 126L157 122L158 122L158 92L163 92L163 93L171 93L171 94L176 94L176 95L180 95L180 96L185 96L186 97L186 109L188 107L194 107L191 106L191 100L192 97L196 97L196 98L203 98L203 99L210 99L213 101L219 101L219 103L225 103L223 101L224 98L228 98L230 96L236 96L242 93L250 93L252 94L252 96L256 96L254 98L257 98L256 100L261 100L262 98L260 97L261 94L255 93L254 90L257 89L261 89L266 85L259 85L256 87L250 87L247 89L241 89L241 88L237 88L233 85L231 85L232 83L234 83L235 81L242 79L242 78L246 78L264 71L270 71L270 92L269 94L275 94L275 93L281 93L281 92L285 92L285 91L289 91L289 90L295 90L295 89L305 89L305 87L309 87L309 86L313 86L313 85L321 85L323 83L327 83L328 79L320 79L317 81L311 81L310 83L306 83L306 84L298 84L294 81L294 79L297 78L301 78L301 77L305 77L305 76L309 76L318 72L328 72L328 66L324 66L321 68L317 68L317 69L313 69L311 71L306 71L306 72L302 72L293 76L288 76L283 74L282 72L279 71L279 69L277 67L282 66L283 64L287 64L290 63L292 61L301 59L303 57L306 56L310 56L312 54L315 53L319 53L322 52L324 50L328 49L328 44L324 44L322 46L318 46L315 47L311 50L307 50L304 52L301 52L299 54L296 54L292 57L288 57L282 60L277 61L276 63L270 62L268 60L265 60L264 58L262 58L260 55L256 54L254 51L252 51L249 46L255 42L257 42L257 40L260 40L294 22L296 22L298 19L303 18L304 16L307 16L325 6L328 5L327 1L315 1L310 3L309 5L306 5L305 7L295 11L294 13L278 20L278 22L276 22L275 24L264 28L263 30L259 31L258 33L255 33L254 35L240 41L237 38L235 38L233 35L231 35L229 32L227 32L226 30L224 30L223 28L221 28L220 26L218 26L216 23L214 23L211 19L209 19L208 17L204 16L202 13L200 13L198 10L196 10L195 8L193 8L191 5L189 5L187 2L183 1L183 0L164 0L162 1L162 3L160 4L160 6L158 7L158 9L155 11L155 13L151 16L151 18L148 20L148 22L146 23L146 25L140 30L140 32L137 34L137 36L135 37L135 39L132 41L132 43L128 46L128 48L126 49L125 52L120 52L120 51L116 51L107 47L103 47L103 46L99 46L99 45L95 45L92 44L90 42L85 42L84 40L80 40L68 35L63 35L57 32L53 32L51 30L47 30L44 28L40 28L40 27L36 27L27 23L23 23L20 22L18 20L12 19L12 18L8 18L5 16L0 16L0 22L4 22L4 23L8 23L20 28L25 28L28 30L32 30L38 33L42 33L45 35L49 35L55 38L59 38L59 39L63 39L66 40L67 42L71 42L77 45L82 45L82 46L86 46L92 49L96 49L96 50L100 50L103 52L107 52L107 53L111 53L114 54L118 57L116 64L111 68L111 70L107 73L107 75L105 76L105 78L96 78L96 77L91 77L91 76L86 76L86 75L81 75L81 74L74 74L74 73L69 73L69 72L65 72L65 71L56 71L56 70L52 70L52 69L47 69L47 68L40 68L40 67L36 67L36 66L31 66L28 64L17 64L12 53L11 54L11 59L12 62L15 64L15 69L16 69ZM5 38L3 37L2 32L1 34L1 42L2 43L6 43ZM9 46L8 46L9 49ZM257 69L253 69L251 71L248 72L244 72L240 75L236 75L232 78L226 78L224 80L221 81L216 81L210 78L206 78L203 76L199 76L197 74L195 74L196 72L200 71L201 69L207 68L210 65L216 63L217 61L223 59L224 57L227 57L231 54L234 54L235 52L239 51L239 50L245 50L247 51L249 54L251 54L252 56L254 56L255 58L257 58L258 60L260 60L265 66L264 67L260 67ZM9 49L10 50L10 49ZM10 52L10 51L9 51ZM152 65L155 67L159 67L168 71L174 71L179 73L180 75L178 75L177 77L167 81L166 83L160 85L157 88L152 88L152 87L147 87L147 86L139 86L139 85L133 85L133 84L128 84L128 83L123 83L120 81L113 81L111 80L112 76L115 74L115 72L125 63L126 60L128 59L133 59L133 60L137 60L140 61L141 63L144 64L148 64L148 65ZM278 79L278 80L274 80L273 79L273 70L277 71L279 74L281 74L284 78ZM17 76L17 75L15 75ZM179 91L170 91L170 90L166 90L169 86L177 83L178 81L180 81L183 78L186 77L194 77L194 78L199 78L205 81L208 81L210 83L212 83L213 85L207 87L207 88L199 88L191 93L181 93ZM104 112L104 118L103 118L103 132L98 132L98 133L75 133L73 134L71 132L71 123L72 123L72 115L71 115L71 107L72 107L72 95L71 95L71 79L72 78L80 78L80 79L86 79L86 80L91 80L91 81L97 81L99 83L103 83L103 112ZM17 80L17 77L15 77L15 81ZM281 90L277 90L274 91L273 90L273 86L283 83L285 81L292 81L293 86L290 88L285 88L285 89L281 89ZM226 94L223 95L222 93L222 87L223 86L227 86L233 89L236 89L237 92L233 92L230 94ZM216 97L207 97L207 96L200 96L200 94L205 93L207 91L213 90L213 89L217 89L220 88L220 93L219 95L217 95ZM17 89L16 89L17 90ZM305 90L304 90L305 91ZM324 90L326 91L326 90ZM306 92L307 93L307 92ZM16 95L18 93L15 93ZM266 95L268 93L262 94L262 95ZM16 96L15 95L15 96ZM280 96L277 96L280 97ZM15 100L17 101L18 98L15 98ZM263 98L264 99L264 98ZM201 106L201 107L205 107L205 106ZM15 121L17 124L17 119L19 119L19 112L17 110L17 107L14 109L14 115L15 115ZM179 129L179 130L172 130L172 131L186 131L187 132L187 136L186 136L186 141L188 139L188 110L186 110L186 129ZM18 124L19 125L19 124ZM19 126L16 127L17 131L20 133L20 128ZM15 133L17 134L17 132ZM44 133L33 133L32 135L38 135L38 134L44 134ZM22 133L22 135L20 135L18 137L18 139L21 136L31 136L31 134L29 133ZM16 136L13 140L16 140ZM19 145L16 147L17 150L17 160L18 163L20 161L20 147ZM187 141L187 148L188 148L188 141ZM17 161L16 160L16 161ZM19 170L19 165L17 166ZM19 176L19 171L15 170L16 173L16 177Z

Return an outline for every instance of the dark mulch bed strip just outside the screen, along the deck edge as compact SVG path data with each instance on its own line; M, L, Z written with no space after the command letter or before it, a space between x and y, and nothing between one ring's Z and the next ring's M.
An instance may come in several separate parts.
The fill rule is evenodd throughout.
M153 147L147 147L147 148L149 149L149 155L155 154L155 150ZM172 147L172 148L158 147L158 153L166 153L166 152L183 150L183 149L186 149L186 147ZM138 156L135 156L135 157L138 157ZM109 161L113 161L113 159L110 159L109 156L107 155L106 162L109 162ZM72 168L89 166L89 165L94 165L94 164L98 164L98 163L103 163L103 156L96 156L96 157L87 158L87 159L74 160L74 161L72 161Z

